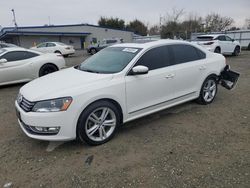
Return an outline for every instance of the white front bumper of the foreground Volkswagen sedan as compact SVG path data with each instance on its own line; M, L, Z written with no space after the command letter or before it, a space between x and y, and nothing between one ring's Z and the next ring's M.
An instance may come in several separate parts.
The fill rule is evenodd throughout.
M46 141L68 141L76 138L75 122L64 112L37 113L25 112L15 102L18 123L23 132L30 138ZM30 127L60 127L57 134L37 134Z

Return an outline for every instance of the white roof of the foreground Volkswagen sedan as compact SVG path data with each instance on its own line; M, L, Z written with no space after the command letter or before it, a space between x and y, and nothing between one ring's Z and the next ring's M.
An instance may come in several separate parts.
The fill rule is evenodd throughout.
M167 45L167 44L193 45L190 42L182 41L182 40L161 39L161 40L151 41L151 42L146 42L146 43L121 43L121 44L113 45L112 47L128 47L128 48L148 49L148 48L157 47L157 46L161 46L161 45Z

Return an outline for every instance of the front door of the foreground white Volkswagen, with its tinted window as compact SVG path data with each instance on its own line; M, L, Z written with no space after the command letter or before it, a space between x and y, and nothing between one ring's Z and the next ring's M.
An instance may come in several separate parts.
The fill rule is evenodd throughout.
M167 46L151 49L137 61L134 66L146 66L149 72L125 77L129 115L150 111L173 98L175 72L169 64Z

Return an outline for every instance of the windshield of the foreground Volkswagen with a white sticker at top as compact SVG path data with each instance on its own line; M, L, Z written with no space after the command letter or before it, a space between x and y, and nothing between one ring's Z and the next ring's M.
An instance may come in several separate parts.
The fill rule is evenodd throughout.
M117 73L122 71L140 50L140 48L129 47L105 48L85 60L78 68L94 73Z

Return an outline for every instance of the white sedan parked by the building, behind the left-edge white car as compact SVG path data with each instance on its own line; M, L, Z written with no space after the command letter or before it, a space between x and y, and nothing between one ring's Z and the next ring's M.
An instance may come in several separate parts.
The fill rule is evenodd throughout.
M59 53L64 57L68 57L69 55L73 55L75 53L73 46L61 42L44 42L32 47L31 49L43 53Z

